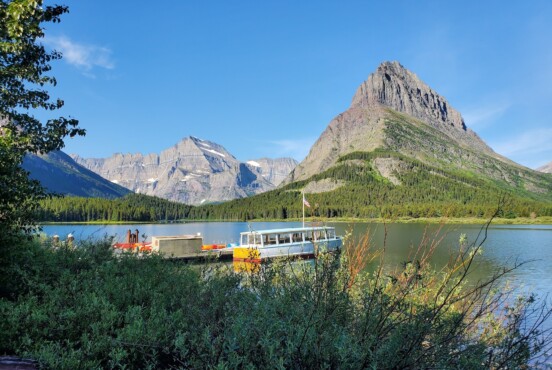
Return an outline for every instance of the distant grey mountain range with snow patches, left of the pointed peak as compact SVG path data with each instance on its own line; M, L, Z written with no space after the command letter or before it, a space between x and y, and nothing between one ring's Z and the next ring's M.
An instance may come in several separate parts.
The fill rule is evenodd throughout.
M289 158L238 161L224 147L188 137L160 154L72 158L136 193L192 205L243 198L274 189L295 167Z

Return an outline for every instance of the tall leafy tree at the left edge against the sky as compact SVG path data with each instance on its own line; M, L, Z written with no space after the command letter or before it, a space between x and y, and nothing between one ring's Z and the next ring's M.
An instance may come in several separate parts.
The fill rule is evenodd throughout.
M47 90L56 79L51 62L61 58L44 47L44 28L60 22L68 11L42 0L0 0L0 242L34 224L34 211L45 197L37 181L21 168L26 153L47 153L63 148L67 136L84 135L74 118L41 122L34 114L63 107ZM29 226L30 225L30 226ZM3 256L0 255L0 261Z

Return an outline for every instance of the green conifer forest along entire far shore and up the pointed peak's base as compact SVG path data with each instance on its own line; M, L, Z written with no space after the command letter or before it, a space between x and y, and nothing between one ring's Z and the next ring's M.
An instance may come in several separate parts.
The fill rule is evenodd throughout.
M329 179L345 185L331 192L307 194L311 205L307 217L487 218L496 211L499 198L507 200L499 217L552 216L552 202L521 196L469 174L400 159L411 168L396 174L402 185L393 185L371 167L364 154L342 158L308 180ZM302 216L301 189L306 185L307 181L295 182L250 198L199 207L139 194L116 200L52 198L42 202L38 217L54 222L298 219Z

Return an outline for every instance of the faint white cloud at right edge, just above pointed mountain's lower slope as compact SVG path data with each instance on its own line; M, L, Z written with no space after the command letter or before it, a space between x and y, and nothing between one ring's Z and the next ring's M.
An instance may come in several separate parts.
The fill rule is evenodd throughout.
M493 148L505 156L537 156L552 150L552 128L528 131Z

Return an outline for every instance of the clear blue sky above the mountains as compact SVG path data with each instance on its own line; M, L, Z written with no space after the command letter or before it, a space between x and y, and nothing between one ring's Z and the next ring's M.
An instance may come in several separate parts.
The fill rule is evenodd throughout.
M77 1L45 43L67 153L152 153L189 135L240 160L302 160L357 87L398 60L495 151L552 160L552 2Z

